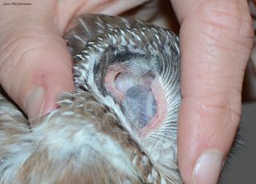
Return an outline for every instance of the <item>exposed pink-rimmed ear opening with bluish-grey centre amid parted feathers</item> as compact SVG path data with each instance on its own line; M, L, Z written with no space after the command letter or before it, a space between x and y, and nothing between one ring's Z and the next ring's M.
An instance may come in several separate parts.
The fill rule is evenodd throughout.
M138 75L116 66L106 72L105 84L118 104L133 113L140 135L161 127L167 113L166 94L153 72Z

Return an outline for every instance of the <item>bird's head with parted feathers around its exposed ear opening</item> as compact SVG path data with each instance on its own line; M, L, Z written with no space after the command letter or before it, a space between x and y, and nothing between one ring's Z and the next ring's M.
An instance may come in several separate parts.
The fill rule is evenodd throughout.
M178 37L145 22L87 15L67 38L76 88L112 109L157 170L178 180Z

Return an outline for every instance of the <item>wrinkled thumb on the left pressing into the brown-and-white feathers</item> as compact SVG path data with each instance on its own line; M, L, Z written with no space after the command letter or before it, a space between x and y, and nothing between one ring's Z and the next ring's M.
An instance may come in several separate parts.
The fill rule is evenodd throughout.
M73 89L71 59L49 7L15 8L0 10L0 83L32 118L56 108L56 96Z

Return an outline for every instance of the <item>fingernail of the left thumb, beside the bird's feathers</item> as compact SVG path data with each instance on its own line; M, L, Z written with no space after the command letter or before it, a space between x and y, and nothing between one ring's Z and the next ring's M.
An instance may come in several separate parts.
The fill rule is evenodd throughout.
M45 104L46 91L42 87L34 88L26 97L26 113L29 118L35 118L42 114Z

